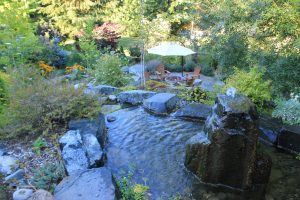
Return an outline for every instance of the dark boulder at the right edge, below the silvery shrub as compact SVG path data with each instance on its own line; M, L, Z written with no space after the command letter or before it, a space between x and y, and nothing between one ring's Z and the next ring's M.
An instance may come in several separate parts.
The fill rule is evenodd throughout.
M299 153L300 126L284 126L279 132L277 146L292 153Z

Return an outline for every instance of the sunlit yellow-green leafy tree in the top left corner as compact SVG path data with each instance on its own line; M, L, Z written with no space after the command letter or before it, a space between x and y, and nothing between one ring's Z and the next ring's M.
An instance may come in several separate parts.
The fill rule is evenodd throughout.
M26 1L0 3L0 68L24 65L41 53L28 13Z

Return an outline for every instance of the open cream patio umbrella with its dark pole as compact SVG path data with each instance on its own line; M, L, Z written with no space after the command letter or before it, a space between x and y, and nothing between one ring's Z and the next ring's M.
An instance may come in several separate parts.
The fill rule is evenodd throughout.
M148 53L161 55L161 56L182 56L182 76L183 76L183 56L191 55L196 52L183 47L175 42L164 42L158 46L152 47L147 50Z

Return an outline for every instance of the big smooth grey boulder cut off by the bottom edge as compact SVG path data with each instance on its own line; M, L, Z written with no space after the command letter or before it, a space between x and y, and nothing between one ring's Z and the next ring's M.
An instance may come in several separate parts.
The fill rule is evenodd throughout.
M56 200L115 200L112 174L102 167L66 177L56 186L54 197Z

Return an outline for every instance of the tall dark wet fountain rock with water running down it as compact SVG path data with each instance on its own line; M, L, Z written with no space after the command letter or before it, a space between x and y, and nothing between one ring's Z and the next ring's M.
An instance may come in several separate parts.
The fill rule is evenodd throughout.
M257 164L258 115L247 97L218 95L204 131L207 139L190 141L185 160L202 181L249 189L256 184L255 174L269 177L270 164Z

